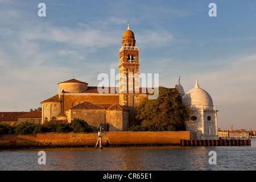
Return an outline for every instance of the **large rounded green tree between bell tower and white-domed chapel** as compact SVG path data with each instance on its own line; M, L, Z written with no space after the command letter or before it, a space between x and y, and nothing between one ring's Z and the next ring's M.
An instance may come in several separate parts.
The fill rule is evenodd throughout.
M163 86L159 87L156 100L145 98L135 109L139 125L130 127L129 131L182 131L190 115L181 96Z

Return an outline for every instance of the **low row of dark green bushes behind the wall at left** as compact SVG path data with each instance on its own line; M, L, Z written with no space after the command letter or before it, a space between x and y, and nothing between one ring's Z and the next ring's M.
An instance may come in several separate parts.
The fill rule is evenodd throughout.
M0 123L0 135L1 134L36 134L36 133L68 133L68 132L90 132L92 128L83 119L73 119L71 123L58 123L55 121L44 122L43 125L24 122L18 123L15 126Z

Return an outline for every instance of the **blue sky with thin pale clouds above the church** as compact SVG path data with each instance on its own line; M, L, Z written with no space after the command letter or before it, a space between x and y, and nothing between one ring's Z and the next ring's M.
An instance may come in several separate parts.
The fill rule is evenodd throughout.
M217 16L209 16L210 3ZM220 129L256 129L253 0L0 0L0 111L38 108L72 77L97 86L100 73L118 73L128 21L139 73L159 73L167 88L180 76L185 93L198 80L219 110Z

